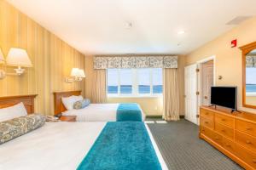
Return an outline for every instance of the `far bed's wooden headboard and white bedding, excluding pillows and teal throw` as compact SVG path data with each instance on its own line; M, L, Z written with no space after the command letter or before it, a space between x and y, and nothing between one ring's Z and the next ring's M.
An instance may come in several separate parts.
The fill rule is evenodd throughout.
M55 92L55 115L62 114L63 116L77 116L77 122L115 122L117 121L117 111L119 104L90 104L84 109L67 111L62 104L62 97L69 97L72 95L80 95L81 91L70 92ZM145 114L138 105L142 120L145 120Z

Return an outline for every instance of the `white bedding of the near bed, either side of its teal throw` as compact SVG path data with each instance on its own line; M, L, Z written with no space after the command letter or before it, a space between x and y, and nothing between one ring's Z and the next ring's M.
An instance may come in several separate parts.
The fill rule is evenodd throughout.
M0 145L0 169L75 170L105 124L46 122L44 127ZM162 169L168 169L148 127L147 130Z

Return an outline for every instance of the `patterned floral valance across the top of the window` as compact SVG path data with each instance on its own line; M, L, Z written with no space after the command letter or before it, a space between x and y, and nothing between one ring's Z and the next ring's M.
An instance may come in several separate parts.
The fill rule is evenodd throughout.
M94 69L177 68L177 56L118 56L94 58Z

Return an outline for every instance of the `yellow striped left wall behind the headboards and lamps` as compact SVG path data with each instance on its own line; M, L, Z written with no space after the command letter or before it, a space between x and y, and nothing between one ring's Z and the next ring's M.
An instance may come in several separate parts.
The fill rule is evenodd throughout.
M85 69L84 54L0 0L0 48L4 56L12 47L25 48L33 67L26 68L26 73L20 77L8 76L0 80L0 96L38 94L35 111L51 115L54 112L53 92L82 90L84 94L84 81L64 81L73 67ZM14 67L0 65L1 68L14 71Z

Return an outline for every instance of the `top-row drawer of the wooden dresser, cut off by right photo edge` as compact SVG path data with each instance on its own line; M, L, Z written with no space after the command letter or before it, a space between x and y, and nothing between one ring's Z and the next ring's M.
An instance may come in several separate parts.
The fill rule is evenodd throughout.
M256 137L256 124L236 119L236 129Z

